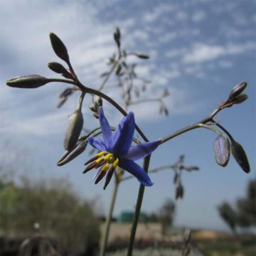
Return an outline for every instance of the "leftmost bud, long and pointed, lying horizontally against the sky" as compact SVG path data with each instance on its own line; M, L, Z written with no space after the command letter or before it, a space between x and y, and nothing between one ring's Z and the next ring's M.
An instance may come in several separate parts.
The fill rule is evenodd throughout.
M50 80L41 75L22 75L7 80L6 85L16 88L32 89L46 85L48 82L50 82Z

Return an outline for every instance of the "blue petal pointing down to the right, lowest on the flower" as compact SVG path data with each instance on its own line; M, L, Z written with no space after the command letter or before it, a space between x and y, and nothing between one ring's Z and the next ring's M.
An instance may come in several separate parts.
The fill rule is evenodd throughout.
M149 175L146 174L146 171L142 169L141 166L134 163L134 161L129 159L119 159L118 164L122 169L129 171L130 174L135 176L140 183L144 186L152 186L154 183L149 178Z

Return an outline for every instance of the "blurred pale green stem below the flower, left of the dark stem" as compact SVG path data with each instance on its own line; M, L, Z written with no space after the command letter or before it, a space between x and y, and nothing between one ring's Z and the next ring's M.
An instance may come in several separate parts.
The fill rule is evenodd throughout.
M110 234L110 224L111 224L112 214L113 214L113 210L114 210L114 203L115 203L115 200L117 197L118 185L119 185L119 181L117 180L117 177L115 177L114 188L113 188L112 198L111 198L111 202L110 202L110 208L109 208L109 212L107 214L107 220L105 222L104 235L102 237L101 244L100 244L100 256L104 256L105 252L106 252L107 240L108 240L108 236Z

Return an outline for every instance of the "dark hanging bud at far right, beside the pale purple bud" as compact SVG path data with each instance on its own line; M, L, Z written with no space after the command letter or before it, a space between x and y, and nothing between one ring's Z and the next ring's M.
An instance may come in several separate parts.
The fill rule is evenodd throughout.
M247 174L249 174L250 164L247 159L245 150L242 148L242 146L238 142L235 142L234 140L231 141L231 152L235 158L235 161L238 162L242 170L245 171Z

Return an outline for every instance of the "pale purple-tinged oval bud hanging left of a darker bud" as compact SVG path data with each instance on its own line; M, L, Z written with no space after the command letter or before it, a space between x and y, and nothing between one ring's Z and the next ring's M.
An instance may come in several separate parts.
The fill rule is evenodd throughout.
M224 135L218 135L213 142L215 160L218 165L225 167L230 159L230 142Z

